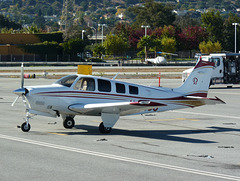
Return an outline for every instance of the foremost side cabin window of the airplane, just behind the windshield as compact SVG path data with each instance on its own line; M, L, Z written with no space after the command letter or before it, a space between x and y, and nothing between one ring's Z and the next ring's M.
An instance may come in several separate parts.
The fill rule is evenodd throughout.
M74 86L76 90L95 91L95 81L92 78L80 78Z

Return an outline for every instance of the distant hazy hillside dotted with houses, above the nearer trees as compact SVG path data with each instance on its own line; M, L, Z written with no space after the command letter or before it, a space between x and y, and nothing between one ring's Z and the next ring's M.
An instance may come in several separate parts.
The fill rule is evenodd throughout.
M146 0L150 1L150 0ZM215 8L235 12L240 7L238 0L159 0L169 4L176 10L196 10ZM116 17L127 8L143 3L141 0L75 0L74 18L79 26L91 23L106 23L114 25L117 20L124 19L131 22L131 16ZM141 4L139 5L141 6ZM69 3L68 8L72 8ZM6 0L0 2L0 13L12 21L29 26L36 24L38 27L56 31L59 29L63 10L62 0ZM72 11L72 10L71 10ZM127 18L127 19L126 19Z

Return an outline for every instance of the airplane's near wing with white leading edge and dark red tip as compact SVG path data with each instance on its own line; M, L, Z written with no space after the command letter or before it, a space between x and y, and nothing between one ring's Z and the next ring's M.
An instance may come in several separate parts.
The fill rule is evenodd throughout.
M120 115L134 114L146 109L166 106L165 104L155 103L148 100L138 102L112 102L96 104L73 104L68 107L69 110L79 114L101 115L104 113L114 113Z

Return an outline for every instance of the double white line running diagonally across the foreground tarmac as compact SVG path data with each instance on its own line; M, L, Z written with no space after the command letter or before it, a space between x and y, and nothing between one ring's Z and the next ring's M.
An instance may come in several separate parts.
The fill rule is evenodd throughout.
M95 152L95 151L90 151L90 150L83 150L83 149L79 149L79 148L56 145L56 144L34 141L34 140L30 140L30 139L18 138L18 137L7 136L7 135L2 135L2 134L0 134L0 138L6 139L6 140L11 140L11 141L17 141L17 142L21 142L21 143L27 143L27 144L47 147L47 148L54 148L54 149L58 149L58 150L70 151L70 152L92 155L92 156L97 156L97 157L102 157L102 158L113 159L113 160L119 160L119 161L124 161L124 162L129 162L129 163L147 165L147 166L152 166L152 167L164 168L164 169L175 170L175 171L180 171L180 172L185 172L185 173L192 173L192 174L204 175L204 176L208 176L208 177L215 177L215 178L221 178L221 179L227 179L227 180L236 180L236 181L240 180L240 177L232 176L232 175L225 175L225 174L219 174L219 173L214 173L214 172L207 172L207 171L202 171L202 170L178 167L178 166L174 166L174 165L167 165L167 164L151 162L151 161L146 161L146 160L139 160L139 159L135 159L135 158L122 157L122 156L106 154L106 153L101 153L101 152Z

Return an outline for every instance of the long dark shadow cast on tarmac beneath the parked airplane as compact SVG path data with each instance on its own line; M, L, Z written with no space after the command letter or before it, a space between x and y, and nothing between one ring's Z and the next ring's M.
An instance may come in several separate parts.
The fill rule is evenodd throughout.
M86 130L87 132L77 132L76 129ZM182 135L205 134L205 133L220 133L240 131L240 129L224 128L224 127L208 127L206 130L122 130L114 128L107 135L124 135L139 138L159 139L168 141L177 141L185 143L217 143L209 140L201 140L194 138L181 137ZM89 125L76 125L74 131L57 132L67 135L104 135L99 133L98 127ZM177 136L179 135L179 136Z

